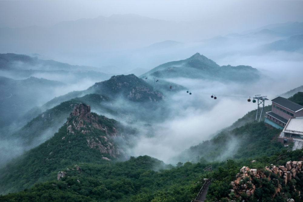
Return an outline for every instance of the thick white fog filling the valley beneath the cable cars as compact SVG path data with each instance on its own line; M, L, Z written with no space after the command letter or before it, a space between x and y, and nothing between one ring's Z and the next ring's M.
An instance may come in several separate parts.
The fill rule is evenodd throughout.
M207 80L172 79L171 82L181 84L189 90L203 93L214 93L234 96L251 96L261 94L271 99L288 90L301 86L303 75L302 55L284 51L270 52L261 56L239 56L221 58L218 63L232 65L251 65L260 69L265 77L253 83L220 83ZM247 102L247 98L217 96L192 92L180 92L172 97L169 103L171 117L158 124L155 136L141 136L131 155L150 155L165 163L177 163L176 159L182 151L190 146L209 140L217 131L230 126L247 112L257 108L256 103ZM200 104L199 104L200 103ZM238 141L235 139L235 141ZM237 144L228 146L228 150L236 151ZM200 156L201 157L201 156ZM228 158L228 152L225 153ZM223 157L222 157L223 158ZM220 158L220 160L224 160Z

